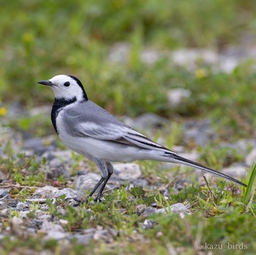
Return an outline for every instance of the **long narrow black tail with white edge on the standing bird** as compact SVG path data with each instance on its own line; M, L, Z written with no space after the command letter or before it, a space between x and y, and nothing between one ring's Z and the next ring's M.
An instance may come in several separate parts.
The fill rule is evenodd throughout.
M222 178L225 178L227 180L232 180L235 183L238 183L238 184L240 184L240 185L242 185L244 187L247 187L247 185L242 183L240 180L236 180L235 178L233 178L231 176L228 176L228 175L225 175L222 172L217 172L216 170L212 170L209 167L205 167L205 166L203 166L203 164L199 164L199 163L197 163L195 161L192 161L192 160L189 160L189 159L185 159L185 158L183 158L181 156L178 156L177 154L165 153L165 156L167 158L172 159L175 163L186 164L187 166L194 167L194 168L196 168L198 170L204 170L206 172L211 172L214 175L218 175L218 176L220 176Z

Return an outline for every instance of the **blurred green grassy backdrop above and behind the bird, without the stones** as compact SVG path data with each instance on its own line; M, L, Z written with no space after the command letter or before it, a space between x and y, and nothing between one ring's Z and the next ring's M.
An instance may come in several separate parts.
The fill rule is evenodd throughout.
M140 53L146 47L219 53L243 45L246 34L255 42L255 13L251 0L1 1L1 105L50 104L53 94L37 81L70 74L82 81L90 99L117 115L207 116L252 134L254 61L231 73L214 72L199 61L199 72L191 72L167 54L146 64ZM110 59L116 42L129 44L121 63ZM173 109L166 94L177 87L189 88L192 96Z

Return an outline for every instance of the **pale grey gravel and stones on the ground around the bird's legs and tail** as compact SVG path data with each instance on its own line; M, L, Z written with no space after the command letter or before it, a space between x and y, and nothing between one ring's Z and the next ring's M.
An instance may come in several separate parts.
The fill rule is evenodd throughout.
M40 109L37 109L37 112L40 113ZM42 108L42 113L45 113L44 108ZM136 119L124 118L124 121L136 129L144 129L145 123L149 123L151 128L148 134L153 132L152 130L154 128L165 126L166 123L169 123L165 118L149 113L141 115ZM60 214L64 214L65 205L59 205L58 199L64 198L68 205L76 208L78 207L78 201L86 198L86 191L91 190L100 178L99 172L88 161L83 159L78 161L70 150L59 149L56 143L56 140L58 140L56 135L32 137L31 135L3 126L0 130L2 144L0 151L1 158L7 159L10 156L7 150L4 149L8 147L8 144L13 149L14 160L20 162L20 164L22 164L22 161L26 157L32 155L35 155L34 161L37 162L42 162L45 158L47 161L45 164L39 166L38 172L43 172L48 178L48 185L22 186L10 179L8 171L1 172L0 229L2 227L1 225L4 224L4 219L7 218L8 221L11 221L11 227L1 232L0 239L6 235L42 235L45 240L56 239L70 241L76 238L78 243L88 244L92 239L111 242L118 235L115 229L103 229L100 226L69 232L65 228L67 220L61 219L61 217L55 217L49 213L48 199L51 199L53 205L57 205L57 210ZM211 128L210 121L187 121L184 124L185 143L193 141L197 145L206 145L207 142L211 142L214 139L217 139L217 134ZM161 142L161 137L159 141ZM223 146L235 148L244 155L246 155L248 147L251 148L251 152L245 157L244 161L230 164L223 169L223 172L234 177L246 174L246 169L248 169L256 158L256 142L253 140L239 140L235 144L223 144ZM182 153L184 151L184 147L182 146L177 146L173 149L177 149L177 151L181 152L181 155L187 156L189 159L197 160L199 157L196 151ZM15 158L19 153L23 153L23 157L20 159L18 157ZM78 169L75 171L75 174L74 170L72 170L72 166L74 165ZM162 167L170 168L173 167L173 164L163 164ZM110 178L105 194L121 186L125 186L125 189L129 189L132 186L142 186L143 189L150 189L152 191L157 191L161 186L161 183L157 183L157 181L149 183L147 178L143 178L140 164L118 163L114 164L114 169L113 177ZM26 175L26 170L21 170L21 172ZM61 176L66 180L64 185L59 182ZM179 183L179 189L182 189L183 182L184 180L181 175L181 178L177 181ZM15 197L13 194L14 189L21 193L28 189L31 189L32 192L29 192L25 199L15 199L13 198ZM162 193L167 195L167 189L163 189ZM191 213L189 212L189 204L183 205L181 203L172 205L170 208L156 208L154 204L149 207L140 205L137 210L138 214L146 218L143 222L143 228L145 229L151 228L154 225L154 222L147 219L152 213L166 214L167 210L171 210L172 213L179 213L181 217L184 217L185 213ZM13 212L16 212L17 216ZM33 217L31 217L31 213ZM12 217L10 218L10 216Z

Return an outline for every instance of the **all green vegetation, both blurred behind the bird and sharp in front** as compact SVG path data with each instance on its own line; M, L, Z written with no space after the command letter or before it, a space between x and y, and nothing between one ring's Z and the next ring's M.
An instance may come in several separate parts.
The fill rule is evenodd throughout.
M170 118L170 129L164 129L166 146L184 145L181 128L188 119L208 118L219 134L210 145L197 148L200 161L217 170L242 161L241 151L219 148L223 141L235 142L255 136L255 61L245 61L233 72L216 72L198 60L194 69L176 66L168 53L179 47L212 48L221 51L228 45L243 45L246 34L255 36L256 1L249 0L75 0L75 1L1 1L0 15L0 121L18 132L43 137L53 134L48 115L17 115L8 118L12 104L23 109L50 105L50 90L37 84L58 74L79 77L91 100L116 115L136 117L142 113L157 113ZM110 60L116 42L129 44L124 61ZM154 64L145 64L140 53L145 48L163 52ZM192 96L182 106L170 107L167 91L187 88ZM7 118L4 118L4 115ZM255 138L255 137L253 137ZM63 145L60 145L63 146ZM186 145L195 148L195 145ZM248 148L249 152L249 148ZM40 172L46 160L37 161L23 153L15 155L11 142L0 156L0 171L10 180L12 199L25 201L37 186L53 185L47 174ZM230 156L232 155L232 156ZM77 164L82 160L74 156ZM0 232L12 235L0 238L1 254L195 254L207 251L207 244L222 245L214 254L245 254L255 251L255 167L246 178L248 189L227 186L219 180L216 186L198 186L198 172L161 169L156 162L140 162L143 178L170 190L166 199L159 190L140 187L121 188L105 195L95 204L73 208L64 197L56 202L48 199L48 213L54 221L67 221L65 230L102 227L115 229L113 240L91 240L88 245L72 240L68 245L56 240L44 240L38 235L18 235L10 218L19 217L18 210L10 218L1 217ZM176 175L189 180L184 189L173 187ZM170 183L172 180L172 183ZM63 176L56 181L69 186ZM176 202L190 204L191 215L181 218L167 211L167 216L140 215L139 206L157 204L167 208ZM61 212L59 208L63 209ZM39 205L31 203L30 218ZM64 212L64 213L63 213ZM153 227L143 227L145 219ZM25 223L26 224L26 223ZM29 227L29 226L26 226ZM8 230L9 229L9 230ZM228 244L246 248L228 249ZM199 245L199 246L197 246Z

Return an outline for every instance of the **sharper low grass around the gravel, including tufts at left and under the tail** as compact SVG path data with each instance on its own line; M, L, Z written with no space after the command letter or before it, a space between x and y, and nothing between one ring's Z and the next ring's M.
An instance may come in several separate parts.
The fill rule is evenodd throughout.
M209 157L214 155L208 152ZM20 155L21 157L21 155ZM47 164L46 161L34 161L34 157L26 157L23 164L15 163L15 157L12 157L12 169L9 170L12 183L20 184L12 188L10 194L13 199L26 201L33 192L34 186L43 186L49 184L49 180L38 174L39 165ZM80 161L80 157L77 158ZM2 161L2 167L7 166L7 161ZM170 178L170 170L159 171L159 164L156 162L141 162L144 165L143 178L148 178L154 186L156 183L166 185ZM26 172L23 172L26 169ZM178 167L177 167L178 170ZM150 171L150 172L148 172ZM172 171L173 173L175 172ZM148 175L149 173L149 175ZM168 177L169 173L169 177ZM184 175L186 172L178 171L176 175ZM23 251L39 252L48 249L53 254L168 254L170 245L186 254L193 254L195 251L214 251L214 254L244 254L255 250L255 229L252 228L256 223L255 218L255 167L252 167L251 173L244 182L248 183L248 188L235 186L233 183L226 183L219 179L217 185L198 186L198 172L189 172L192 181L188 181L184 188L177 190L169 183L170 196L168 199L162 196L157 189L142 189L141 187L132 187L125 189L121 187L114 190L113 193L105 195L101 203L95 203L89 199L87 204L73 208L65 200L65 196L59 197L53 202L48 199L49 214L53 222L58 223L60 219L67 221L64 229L67 232L80 232L80 229L99 228L115 229L118 235L114 235L112 241L91 240L89 246L78 244L76 240L66 245L56 240L45 240L42 238L44 233L38 233L36 236L23 235L19 232L12 232L10 235L0 240L3 248L3 254L16 252L22 254ZM154 177L154 178L153 178ZM187 177L187 178L189 178ZM23 186L26 185L26 186ZM63 184L63 185L67 185ZM140 214L139 207L151 206L152 203L157 208L168 208L170 205L182 202L185 205L189 203L190 215L185 214L181 218L176 213L167 215L152 214L143 216ZM40 208L38 202L31 202L28 217L30 220L37 218L37 210ZM60 210L63 209L63 210ZM12 217L20 217L18 210L10 211ZM145 229L143 222L148 218L153 223L153 227ZM23 221L23 227L29 225L29 220ZM2 233L8 233L12 229L11 221L4 220L0 226ZM248 229L250 229L248 231ZM41 236L40 236L41 235ZM212 248L214 245L219 249ZM234 246L240 248L232 248ZM230 247L230 248L228 248Z

